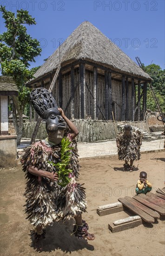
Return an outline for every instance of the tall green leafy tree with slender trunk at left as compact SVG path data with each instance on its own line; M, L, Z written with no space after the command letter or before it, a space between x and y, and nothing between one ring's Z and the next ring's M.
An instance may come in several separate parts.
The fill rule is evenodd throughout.
M41 48L37 39L33 39L26 32L26 25L35 25L36 22L28 11L17 10L15 13L7 11L0 6L2 17L5 20L7 31L0 34L0 63L3 75L13 76L19 89L19 96L13 97L13 124L17 134L17 144L20 144L23 118L22 114L29 101L29 88L27 81L33 78L33 71L29 70L29 62L40 55ZM17 120L16 112L19 116Z

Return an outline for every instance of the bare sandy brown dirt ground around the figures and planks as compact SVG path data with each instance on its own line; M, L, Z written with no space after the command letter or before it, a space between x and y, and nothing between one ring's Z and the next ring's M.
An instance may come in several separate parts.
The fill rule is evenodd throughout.
M73 220L47 227L42 256L164 256L165 222L144 224L134 229L111 233L108 223L128 216L126 212L100 217L99 205L118 202L119 197L135 195L140 171L146 171L153 192L165 185L165 153L143 154L132 173L123 172L123 162L117 157L81 160L80 183L85 183L88 213L83 214L94 233L94 241L78 240L71 236ZM0 256L36 256L33 239L29 236L31 225L23 212L25 198L24 173L21 166L0 169Z

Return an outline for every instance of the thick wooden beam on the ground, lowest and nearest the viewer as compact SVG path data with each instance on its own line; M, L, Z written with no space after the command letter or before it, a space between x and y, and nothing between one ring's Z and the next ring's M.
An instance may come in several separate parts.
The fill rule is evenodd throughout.
M135 220L132 222L126 222L119 225L114 225L113 223L108 224L108 228L112 231L112 233L120 232L127 229L135 228L139 225L141 225L143 222L142 220Z

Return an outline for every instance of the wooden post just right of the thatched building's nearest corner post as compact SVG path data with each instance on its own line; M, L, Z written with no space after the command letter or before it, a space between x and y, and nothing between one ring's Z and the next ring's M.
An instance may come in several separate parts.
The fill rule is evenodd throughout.
M93 119L96 120L98 118L98 70L97 70L97 67L93 67L93 81L94 81Z

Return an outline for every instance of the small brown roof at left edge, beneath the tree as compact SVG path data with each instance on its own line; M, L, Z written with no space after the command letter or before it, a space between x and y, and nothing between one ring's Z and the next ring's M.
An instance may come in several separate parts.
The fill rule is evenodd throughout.
M0 95L18 95L18 88L12 76L0 76Z

